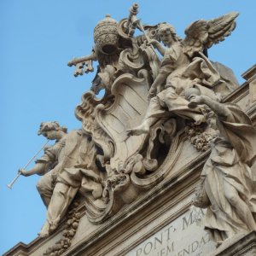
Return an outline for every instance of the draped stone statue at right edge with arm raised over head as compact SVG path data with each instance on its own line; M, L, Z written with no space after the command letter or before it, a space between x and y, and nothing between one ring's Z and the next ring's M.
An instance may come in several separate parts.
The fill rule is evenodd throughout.
M195 105L208 107L207 123L219 131L201 172L201 192L194 204L207 207L205 228L220 245L238 233L256 230L256 130L236 104L219 103L195 94L188 98Z

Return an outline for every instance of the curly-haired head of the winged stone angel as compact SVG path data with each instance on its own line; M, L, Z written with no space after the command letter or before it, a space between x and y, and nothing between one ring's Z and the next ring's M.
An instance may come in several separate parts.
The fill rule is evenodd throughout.
M170 45L172 45L173 42L178 41L175 29L169 23L160 23L160 26L158 28L158 33L160 36L160 40L166 46L170 46Z

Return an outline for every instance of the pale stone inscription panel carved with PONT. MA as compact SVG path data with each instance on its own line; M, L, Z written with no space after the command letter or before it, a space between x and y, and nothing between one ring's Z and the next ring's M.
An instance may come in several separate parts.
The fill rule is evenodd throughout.
M201 209L185 212L126 255L207 255L215 244L203 230L201 218Z

